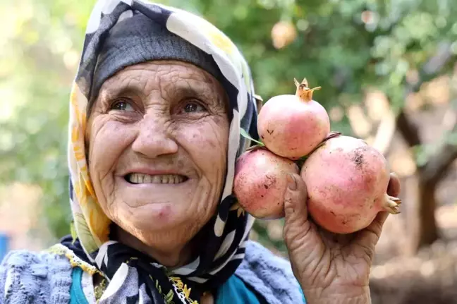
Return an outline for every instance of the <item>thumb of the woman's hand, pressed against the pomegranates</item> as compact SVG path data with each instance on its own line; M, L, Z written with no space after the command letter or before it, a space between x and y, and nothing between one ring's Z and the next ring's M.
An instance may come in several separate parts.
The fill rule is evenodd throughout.
M307 222L306 185L298 174L288 174L288 188L284 193L285 224L302 227Z

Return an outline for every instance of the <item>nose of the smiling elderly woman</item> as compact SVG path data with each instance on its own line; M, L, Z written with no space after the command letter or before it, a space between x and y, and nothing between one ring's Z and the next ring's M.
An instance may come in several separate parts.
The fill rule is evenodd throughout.
M132 145L133 151L150 158L178 152L178 144L169 135L166 124L164 118L146 114L139 123L138 136Z

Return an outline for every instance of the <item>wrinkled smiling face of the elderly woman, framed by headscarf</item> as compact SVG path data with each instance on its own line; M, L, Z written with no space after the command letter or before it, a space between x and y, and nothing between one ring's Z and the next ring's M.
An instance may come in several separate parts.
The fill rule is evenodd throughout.
M155 61L105 81L88 122L99 205L147 245L187 243L214 214L226 174L226 94L200 68Z

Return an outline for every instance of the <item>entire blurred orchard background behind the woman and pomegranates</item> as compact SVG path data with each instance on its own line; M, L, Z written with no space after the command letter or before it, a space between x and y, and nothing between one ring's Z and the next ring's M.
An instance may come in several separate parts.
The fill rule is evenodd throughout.
M401 177L372 269L372 303L457 303L457 1L159 1L233 39L265 101L320 85L332 130ZM94 0L0 2L0 260L70 232L68 96ZM285 255L282 221L252 238Z

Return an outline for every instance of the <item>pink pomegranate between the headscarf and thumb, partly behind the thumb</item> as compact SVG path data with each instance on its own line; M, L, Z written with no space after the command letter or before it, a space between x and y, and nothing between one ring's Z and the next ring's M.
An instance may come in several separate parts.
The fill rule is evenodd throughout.
M298 166L264 148L242 154L235 169L233 193L246 212L258 219L284 217L287 174L298 174Z

